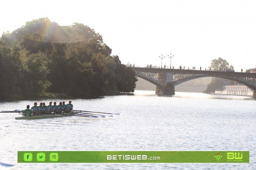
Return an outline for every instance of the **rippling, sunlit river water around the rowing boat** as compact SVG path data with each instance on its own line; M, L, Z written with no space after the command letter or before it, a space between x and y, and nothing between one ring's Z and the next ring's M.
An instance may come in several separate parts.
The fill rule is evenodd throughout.
M61 99L44 100L56 101ZM24 110L35 101L0 102ZM37 101L37 103L40 101ZM66 100L67 103L67 100ZM255 169L256 100L248 96L136 90L134 95L72 99L74 110L120 113L88 119L15 120L0 113L0 162L12 169ZM17 151L250 151L250 163L17 163ZM1 167L0 167L1 169Z

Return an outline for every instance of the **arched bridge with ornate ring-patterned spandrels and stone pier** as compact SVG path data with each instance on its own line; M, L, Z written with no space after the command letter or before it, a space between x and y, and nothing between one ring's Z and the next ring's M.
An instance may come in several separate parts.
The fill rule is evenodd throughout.
M256 73L142 67L132 67L132 69L137 77L156 85L157 94L174 95L174 86L180 83L202 77L219 77L246 85L254 90L253 97L256 97Z

